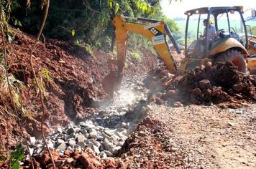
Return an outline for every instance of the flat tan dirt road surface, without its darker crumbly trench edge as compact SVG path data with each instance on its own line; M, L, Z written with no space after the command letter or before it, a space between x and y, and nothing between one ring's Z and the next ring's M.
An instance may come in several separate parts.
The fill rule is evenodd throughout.
M153 105L150 117L169 131L184 168L256 168L256 105L237 110L216 106Z

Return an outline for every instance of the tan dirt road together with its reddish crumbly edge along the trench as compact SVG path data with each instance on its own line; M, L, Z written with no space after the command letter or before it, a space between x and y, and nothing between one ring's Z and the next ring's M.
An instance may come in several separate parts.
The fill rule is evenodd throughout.
M129 168L255 168L255 107L148 105L127 140Z

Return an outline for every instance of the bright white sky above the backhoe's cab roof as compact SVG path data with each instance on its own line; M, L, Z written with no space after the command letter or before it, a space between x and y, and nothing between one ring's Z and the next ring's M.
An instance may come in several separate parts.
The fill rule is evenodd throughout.
M256 0L183 0L182 2L173 0L171 4L170 0L162 0L160 3L164 14L171 19L186 17L184 15L186 10L207 6L244 6L244 11L256 9Z

